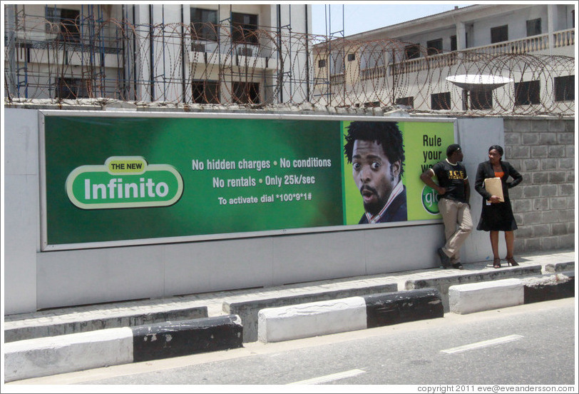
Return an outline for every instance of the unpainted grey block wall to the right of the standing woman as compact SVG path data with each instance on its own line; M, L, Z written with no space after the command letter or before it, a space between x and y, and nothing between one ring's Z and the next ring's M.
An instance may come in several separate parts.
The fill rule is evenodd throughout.
M518 251L575 246L574 131L573 119L505 119L506 160L523 175L509 191Z

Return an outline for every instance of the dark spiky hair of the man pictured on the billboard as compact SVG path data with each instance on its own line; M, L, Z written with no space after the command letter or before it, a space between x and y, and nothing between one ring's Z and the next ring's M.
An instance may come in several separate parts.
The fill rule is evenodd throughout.
M384 155L390 163L400 161L399 178L404 171L404 144L402 133L396 122L354 121L348 126L348 133L344 136L344 155L348 163L352 163L354 141L376 141L382 147Z

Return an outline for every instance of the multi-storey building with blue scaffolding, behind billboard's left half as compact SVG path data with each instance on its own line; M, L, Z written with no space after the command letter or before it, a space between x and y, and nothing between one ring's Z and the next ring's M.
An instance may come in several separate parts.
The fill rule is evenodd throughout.
M5 96L276 103L309 94L311 6L6 5ZM302 97L304 96L304 97Z

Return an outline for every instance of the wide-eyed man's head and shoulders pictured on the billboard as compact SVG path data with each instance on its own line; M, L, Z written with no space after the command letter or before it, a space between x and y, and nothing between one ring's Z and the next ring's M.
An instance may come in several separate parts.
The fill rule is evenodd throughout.
M397 123L354 121L345 138L344 154L364 203L359 224L406 221L404 146Z

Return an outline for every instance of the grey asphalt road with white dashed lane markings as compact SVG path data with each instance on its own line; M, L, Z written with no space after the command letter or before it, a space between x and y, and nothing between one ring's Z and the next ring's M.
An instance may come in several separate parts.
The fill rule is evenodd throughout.
M247 343L242 349L19 383L573 385L575 308L575 298L565 298L469 315L446 313L433 320L283 343Z

